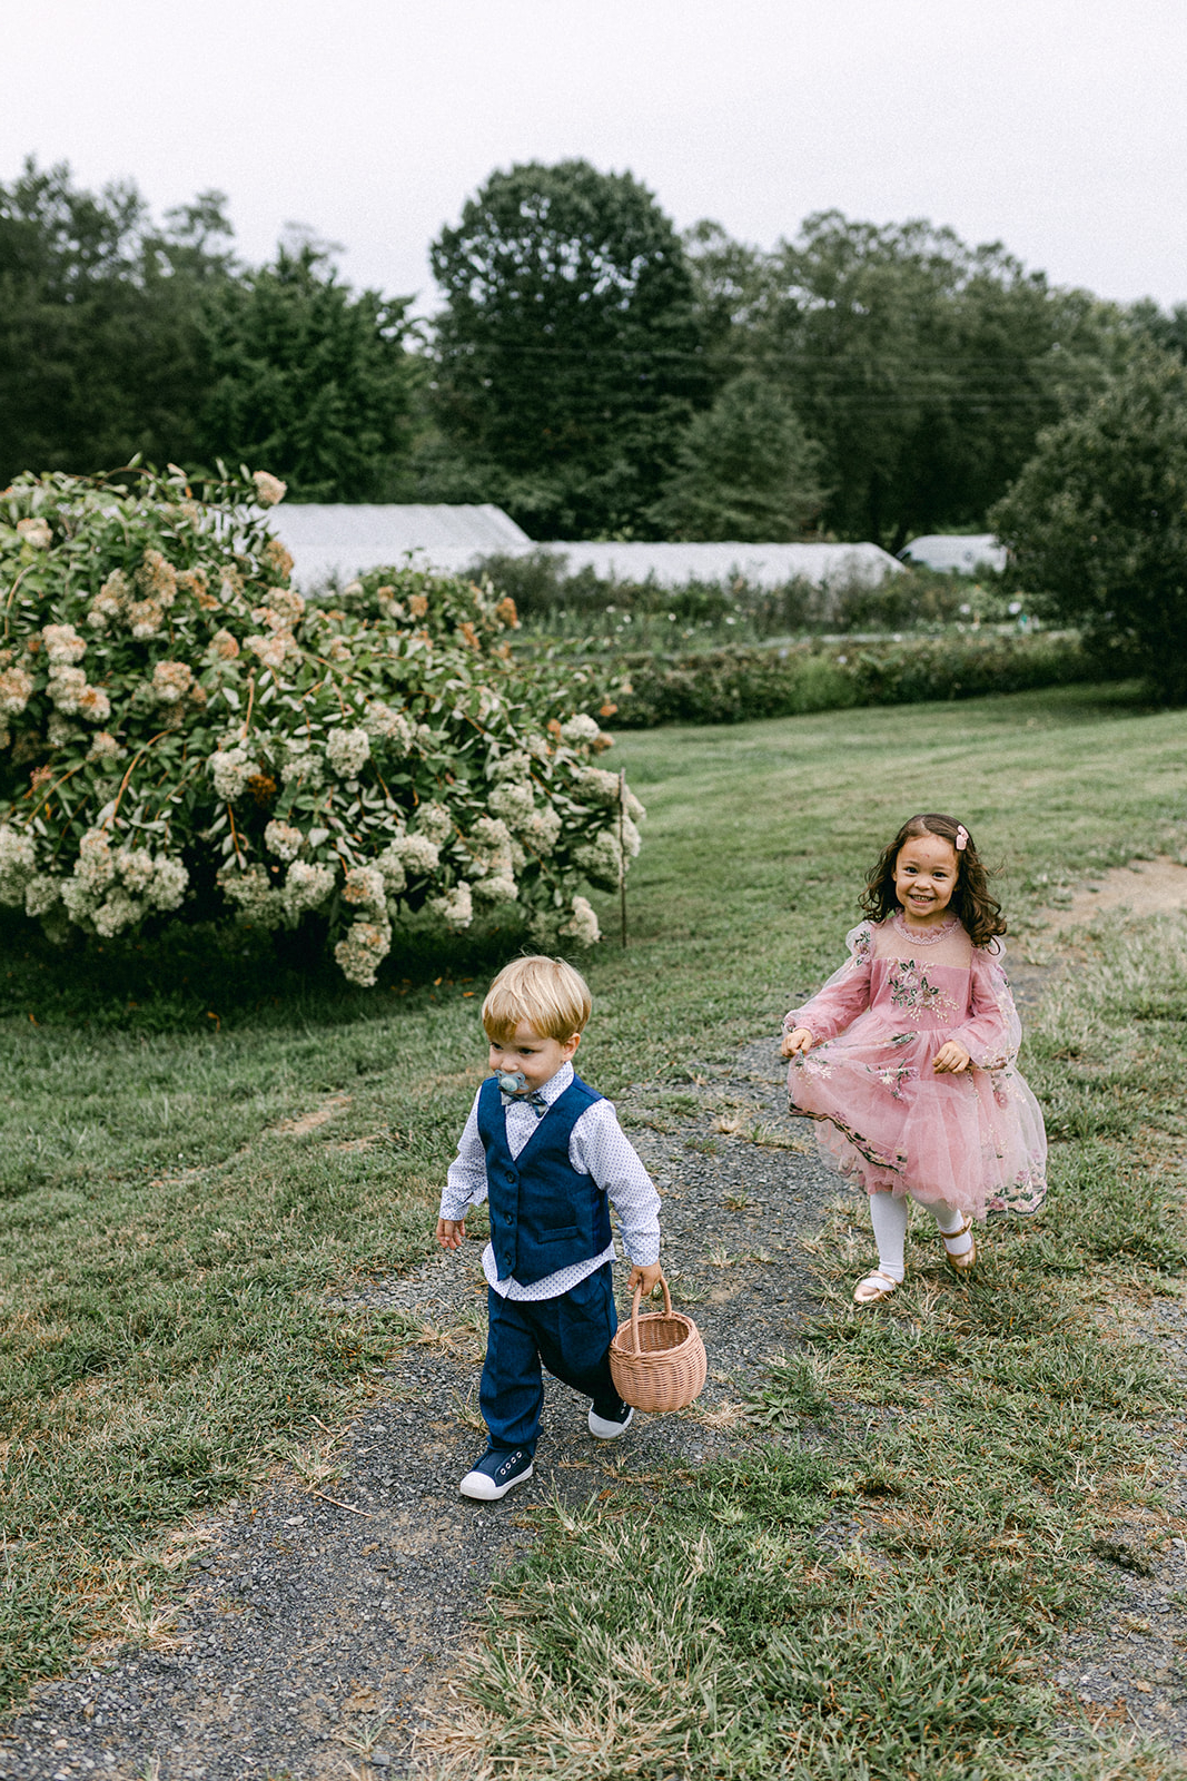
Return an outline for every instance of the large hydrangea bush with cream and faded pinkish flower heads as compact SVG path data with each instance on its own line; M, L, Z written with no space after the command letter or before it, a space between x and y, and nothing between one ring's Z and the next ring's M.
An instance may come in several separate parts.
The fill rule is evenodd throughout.
M375 572L306 604L256 472L196 500L21 477L0 495L0 903L55 937L315 919L370 985L400 923L521 912L591 946L642 807L580 670L518 666L489 586Z

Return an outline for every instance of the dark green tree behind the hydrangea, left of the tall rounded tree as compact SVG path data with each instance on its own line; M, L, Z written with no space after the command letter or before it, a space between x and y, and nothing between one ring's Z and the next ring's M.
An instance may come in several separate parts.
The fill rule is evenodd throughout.
M206 467L269 463L299 500L383 500L411 440L411 297L354 294L301 239L206 308Z

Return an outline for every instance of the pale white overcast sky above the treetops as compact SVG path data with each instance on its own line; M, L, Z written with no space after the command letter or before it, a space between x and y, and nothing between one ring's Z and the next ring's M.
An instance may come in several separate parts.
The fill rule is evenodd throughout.
M0 182L25 155L153 210L219 187L420 294L493 167L630 169L683 228L931 217L1055 283L1187 301L1183 0L37 0L4 7Z

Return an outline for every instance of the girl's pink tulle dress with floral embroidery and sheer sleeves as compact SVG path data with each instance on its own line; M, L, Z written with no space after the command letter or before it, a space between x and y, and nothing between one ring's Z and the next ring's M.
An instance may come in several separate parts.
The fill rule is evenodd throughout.
M1039 1104L1014 1069L1021 1024L1002 942L973 946L956 917L909 931L902 914L863 921L851 956L794 1008L812 1051L788 1070L790 1111L819 1120L820 1156L867 1193L947 1200L963 1213L1032 1213L1046 1193ZM972 1065L936 1074L956 1038Z

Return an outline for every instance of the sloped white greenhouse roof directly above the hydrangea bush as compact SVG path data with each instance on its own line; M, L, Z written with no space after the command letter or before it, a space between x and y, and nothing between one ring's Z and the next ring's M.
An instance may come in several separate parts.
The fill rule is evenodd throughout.
M424 552L418 561L427 559L432 568L461 568L495 550L530 549L527 533L489 502L473 508L285 502L269 513L269 522L292 552L301 588L399 566L409 550Z

